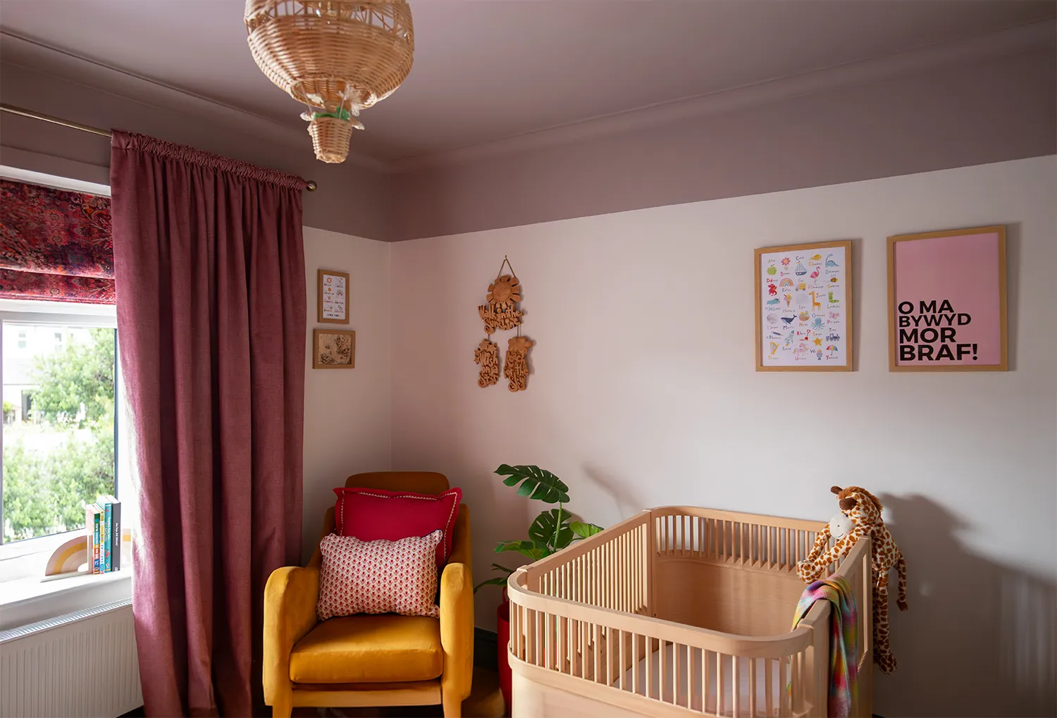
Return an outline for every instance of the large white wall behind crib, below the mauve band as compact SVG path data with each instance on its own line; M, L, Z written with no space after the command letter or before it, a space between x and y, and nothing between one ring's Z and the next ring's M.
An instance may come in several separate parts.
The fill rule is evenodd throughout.
M477 579L541 509L502 462L555 472L604 524L669 503L826 519L831 484L864 485L910 571L875 712L1053 715L1055 198L1049 157L395 244L393 468L463 487ZM1008 227L1012 370L889 373L885 238L988 224ZM755 372L753 248L830 239L854 240L856 371ZM521 393L472 363L504 254L538 343Z

